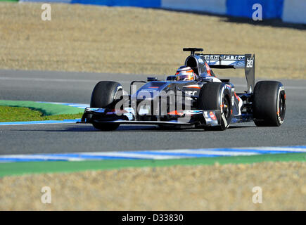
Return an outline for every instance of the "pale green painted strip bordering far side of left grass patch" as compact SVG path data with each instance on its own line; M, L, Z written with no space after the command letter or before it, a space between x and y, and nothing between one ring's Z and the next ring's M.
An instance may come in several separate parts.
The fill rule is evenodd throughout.
M30 108L42 112L43 115L63 115L84 113L84 109L68 105L57 105L51 103L37 103L34 101L8 101L0 100L0 105L11 107Z

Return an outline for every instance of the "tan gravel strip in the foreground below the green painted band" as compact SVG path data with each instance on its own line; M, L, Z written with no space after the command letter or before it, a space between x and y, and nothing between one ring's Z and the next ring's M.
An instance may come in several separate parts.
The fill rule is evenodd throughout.
M305 177L305 162L6 176L0 210L306 210Z

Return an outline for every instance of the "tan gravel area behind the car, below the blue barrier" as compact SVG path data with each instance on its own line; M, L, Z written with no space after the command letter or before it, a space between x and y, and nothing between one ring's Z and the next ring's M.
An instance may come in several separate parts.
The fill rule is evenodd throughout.
M305 26L77 4L51 4L51 21L43 21L41 6L0 3L1 69L174 75L187 56L182 48L202 47L255 53L257 77L306 79Z

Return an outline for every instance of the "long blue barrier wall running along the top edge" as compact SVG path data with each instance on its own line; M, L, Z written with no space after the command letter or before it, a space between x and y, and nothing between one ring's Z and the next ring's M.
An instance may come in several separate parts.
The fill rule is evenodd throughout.
M0 0L1 1L1 0ZM262 5L262 19L282 19L284 22L306 24L306 0L20 0L64 2L102 6L138 6L200 11L234 17L252 18L254 4Z

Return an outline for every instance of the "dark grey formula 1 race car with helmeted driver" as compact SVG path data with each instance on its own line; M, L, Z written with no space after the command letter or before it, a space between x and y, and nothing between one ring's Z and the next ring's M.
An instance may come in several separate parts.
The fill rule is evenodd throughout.
M160 127L203 127L225 130L229 124L254 121L258 127L279 127L286 111L283 84L260 81L255 85L255 55L191 55L176 75L165 80L148 77L133 81L130 93L118 82L101 81L91 95L81 123L111 131L120 124L155 124ZM212 68L244 68L248 89L236 93L229 79L217 79ZM138 90L137 83L145 83Z

